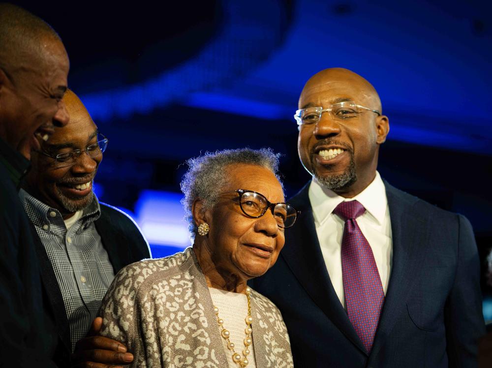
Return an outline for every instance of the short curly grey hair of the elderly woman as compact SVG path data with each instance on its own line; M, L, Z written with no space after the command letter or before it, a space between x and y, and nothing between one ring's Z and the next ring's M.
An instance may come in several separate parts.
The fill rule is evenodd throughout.
M221 188L227 178L227 167L232 165L257 165L271 170L282 184L278 174L278 158L271 148L225 149L222 151L205 152L205 154L186 161L189 169L181 180L184 198L184 218L188 223L190 238L195 238L197 227L193 221L191 208L195 199L204 202L204 208L214 207Z

